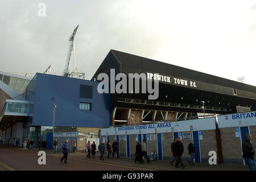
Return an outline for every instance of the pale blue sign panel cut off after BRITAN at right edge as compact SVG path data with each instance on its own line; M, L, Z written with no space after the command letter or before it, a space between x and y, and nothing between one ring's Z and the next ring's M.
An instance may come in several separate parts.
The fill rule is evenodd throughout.
M218 127L243 127L256 125L256 112L218 115Z

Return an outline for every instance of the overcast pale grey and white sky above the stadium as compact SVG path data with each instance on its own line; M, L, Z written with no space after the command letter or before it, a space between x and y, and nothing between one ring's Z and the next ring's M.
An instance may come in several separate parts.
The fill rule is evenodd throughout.
M80 24L76 62L86 79L116 49L256 85L256 1L9 0L0 23L0 71L42 73L52 64L61 75Z

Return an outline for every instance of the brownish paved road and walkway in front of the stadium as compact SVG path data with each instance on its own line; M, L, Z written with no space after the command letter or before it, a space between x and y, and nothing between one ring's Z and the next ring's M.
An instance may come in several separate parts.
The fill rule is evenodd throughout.
M190 166L188 162L184 162L187 166L185 169L175 168L168 161L151 161L150 163L134 163L131 158L112 158L108 159L104 156L104 161L100 160L99 152L96 152L95 159L87 159L87 152L68 153L68 164L66 167L61 165L60 158L63 156L61 152L53 154L52 150L46 150L46 159L48 165L38 165L37 159L38 149L23 150L23 148L0 146L0 164L1 162L13 166L18 170L163 170L163 171L247 171L247 166L238 164L217 164L209 165L206 163L196 163ZM25 164L25 166L24 166ZM47 166L47 167L46 167ZM0 165L1 167L1 165ZM5 169L5 168L3 168ZM1 170L1 168L0 168Z

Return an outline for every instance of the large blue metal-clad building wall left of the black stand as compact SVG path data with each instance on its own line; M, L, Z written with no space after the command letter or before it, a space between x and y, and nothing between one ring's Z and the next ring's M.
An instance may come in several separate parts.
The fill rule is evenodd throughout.
M92 86L92 98L80 98L80 85ZM32 122L27 126L52 126L53 104L56 104L55 126L109 127L110 94L97 92L98 82L36 73L27 86L26 100L34 101ZM92 110L79 109L80 102L92 104Z

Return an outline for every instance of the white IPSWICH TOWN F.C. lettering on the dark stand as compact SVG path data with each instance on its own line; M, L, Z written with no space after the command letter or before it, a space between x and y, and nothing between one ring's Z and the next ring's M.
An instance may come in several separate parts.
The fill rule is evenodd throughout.
M158 81L163 81L163 82L171 82L171 77L170 76L164 76L164 75L159 75L157 73L148 73L147 72L147 78L148 79L154 79L154 80L158 80ZM188 80L183 80L181 78L175 78L174 77L174 84L177 85L183 85L183 86L191 86L191 87L197 87L196 86L196 82L195 81L189 81L189 85L188 85Z

